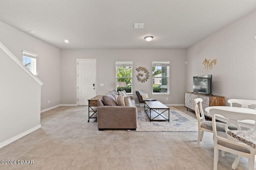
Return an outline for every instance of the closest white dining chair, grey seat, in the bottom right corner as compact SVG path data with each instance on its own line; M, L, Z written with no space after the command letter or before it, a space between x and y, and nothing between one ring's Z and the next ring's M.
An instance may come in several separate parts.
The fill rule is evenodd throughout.
M234 163L232 164L232 169L236 169L238 166L240 157L248 158L248 166L249 170L254 170L254 158L255 158L255 149L242 143L231 137L227 134L228 126L235 125L238 130L241 130L238 121L241 120L253 120L254 121L254 130L256 129L256 114L252 113L238 113L234 111L224 111L220 109L210 109L210 113L213 115L212 117L212 127L213 127L213 134L214 134L214 170L217 170L218 167L218 157L219 157L219 150L230 152L236 155ZM228 122L225 126L225 132L217 131L216 128L216 116L222 115Z

